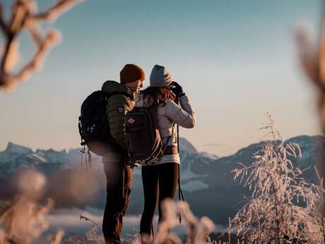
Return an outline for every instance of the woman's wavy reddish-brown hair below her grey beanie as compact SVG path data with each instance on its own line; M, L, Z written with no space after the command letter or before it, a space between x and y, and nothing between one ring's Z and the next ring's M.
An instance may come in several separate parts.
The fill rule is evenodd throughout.
M141 95L153 108L158 108L160 104L165 105L167 100L175 100L175 95L167 87L149 86L141 91Z

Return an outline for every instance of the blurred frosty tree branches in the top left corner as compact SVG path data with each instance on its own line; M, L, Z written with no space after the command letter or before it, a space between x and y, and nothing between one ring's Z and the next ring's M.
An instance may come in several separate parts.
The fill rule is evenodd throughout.
M4 43L0 45L0 90L11 88L19 81L27 80L32 71L40 70L45 54L59 41L55 30L42 32L42 22L54 21L61 13L82 0L59 0L46 11L37 11L35 0L13 0L11 16L4 16L4 6L0 3L0 30ZM35 54L20 70L14 71L19 61L19 34L26 30L35 43Z

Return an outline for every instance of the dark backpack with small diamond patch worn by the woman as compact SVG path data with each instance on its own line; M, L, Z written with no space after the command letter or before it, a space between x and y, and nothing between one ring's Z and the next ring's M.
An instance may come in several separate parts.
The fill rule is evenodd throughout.
M125 136L131 164L150 165L162 157L166 146L162 144L156 122L157 113L153 108L134 108L126 113Z

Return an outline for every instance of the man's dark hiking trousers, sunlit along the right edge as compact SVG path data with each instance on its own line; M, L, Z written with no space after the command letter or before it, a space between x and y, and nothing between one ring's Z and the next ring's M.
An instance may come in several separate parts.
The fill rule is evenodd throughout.
M102 159L107 178L107 199L102 221L102 232L107 244L121 243L122 218L129 205L132 170L124 165L117 153L107 153Z

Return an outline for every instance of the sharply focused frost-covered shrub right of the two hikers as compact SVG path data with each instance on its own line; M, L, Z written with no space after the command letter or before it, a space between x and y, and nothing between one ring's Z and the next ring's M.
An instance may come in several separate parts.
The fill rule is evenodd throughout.
M254 153L254 162L232 170L234 180L252 191L232 227L247 243L324 243L318 211L324 190L302 178L302 170L290 161L301 157L300 147L284 144L267 115L270 122L261 128L269 131L267 141Z

